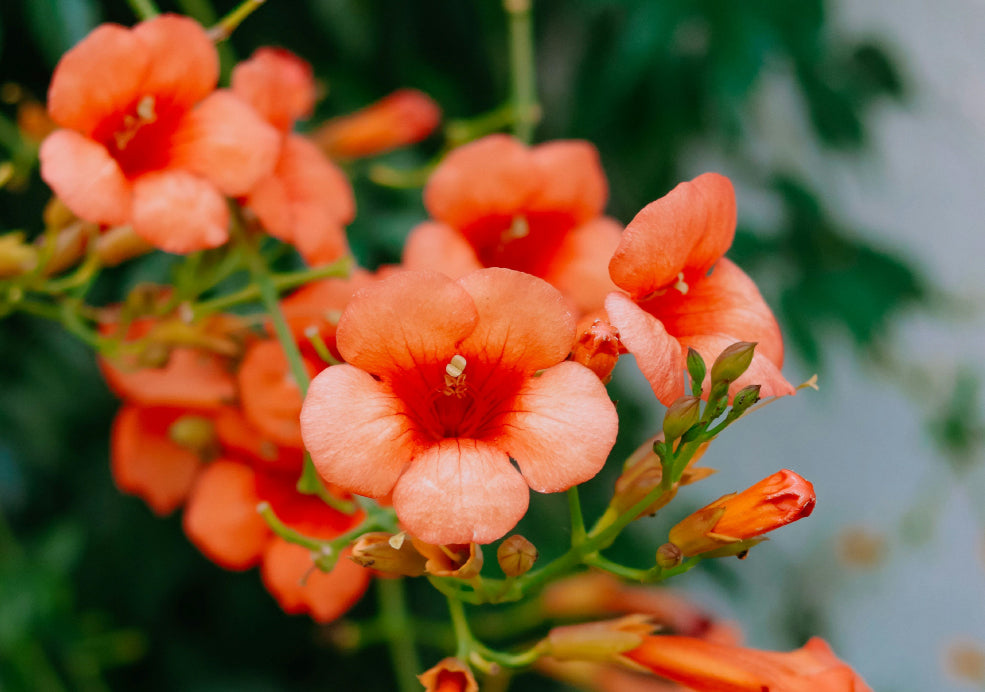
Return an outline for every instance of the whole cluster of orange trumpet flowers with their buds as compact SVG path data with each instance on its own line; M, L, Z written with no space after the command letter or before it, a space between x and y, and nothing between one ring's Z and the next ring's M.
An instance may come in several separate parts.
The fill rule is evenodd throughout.
M103 74L114 78L94 78ZM292 134L312 109L314 84L284 51L238 65L230 90L217 81L212 41L189 19L100 27L55 72L48 105L61 129L41 147L42 176L104 232L131 229L183 254L225 244L246 219L318 265L347 254L344 226L355 214L325 152L361 156L415 141L436 120L432 105L404 93L315 138ZM697 422L699 389L707 398L724 386L726 402L792 394L776 320L724 258L736 224L731 183L714 173L683 183L626 228L603 216L607 195L585 142L530 148L491 135L452 151L430 176L431 220L410 232L400 266L312 283L282 301L314 378L306 397L270 326L224 314L192 320L181 306L162 314L164 291L131 296L106 326L123 357L103 362L124 400L113 431L117 484L158 513L184 505L185 530L210 559L259 564L285 610L328 621L365 590L370 570L360 565L474 575L476 544L517 524L530 489L559 492L594 477L615 443L605 383L623 354L669 406L658 446ZM703 362L715 366L705 372ZM616 515L660 485L652 449L627 465ZM312 494L297 489L305 451L322 483ZM704 475L688 466L680 484ZM412 540L360 536L353 494L392 505ZM683 520L667 559L739 553L813 505L810 484L781 471ZM359 564L319 562L285 532L354 543ZM519 574L529 564L511 545ZM508 560L500 564L509 574ZM581 615L631 608L640 610ZM543 653L642 667L696 690L868 689L820 641L772 654L655 637L633 617L574 627L552 631ZM592 684L605 689L606 675ZM422 682L477 689L454 659Z

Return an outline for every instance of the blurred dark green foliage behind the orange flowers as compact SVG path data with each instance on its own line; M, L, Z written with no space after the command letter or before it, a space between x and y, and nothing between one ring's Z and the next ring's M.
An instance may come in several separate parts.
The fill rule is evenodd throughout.
M205 21L234 4L161 3ZM698 148L747 172L779 202L783 219L779 228L743 227L731 256L754 276L774 275L765 292L808 363L821 361L830 329L846 330L868 348L902 308L925 299L925 280L904 258L846 227L812 181L765 167L749 150L754 96L767 72L784 75L817 142L841 151L863 151L874 103L906 95L880 44L832 32L828 2L534 6L544 108L538 138L594 142L610 179L608 211L622 221L682 180ZM0 82L43 98L58 56L103 20L134 21L123 0L6 0ZM449 119L490 111L508 94L505 19L492 0L271 1L224 49L224 68L268 44L297 52L323 80L326 96L313 122L404 86L429 93ZM10 150L2 135L14 106L0 104L0 116L0 148ZM385 161L419 167L439 139ZM424 217L419 191L373 184L366 164L349 172L359 206L350 228L357 255L368 266L396 261L403 238ZM31 175L26 191L0 192L0 228L39 229L47 193L36 171ZM166 260L153 261L166 271ZM100 294L119 295L139 271L113 274ZM284 616L255 573L215 568L187 543L177 518L157 519L115 491L106 442L114 403L84 347L50 325L4 320L0 383L0 687L391 688L384 649L341 658L329 645L331 630ZM614 458L623 458L648 431L638 425L640 402L629 392L614 395L623 421ZM937 428L956 446L970 429L963 411L957 402ZM584 493L590 516L605 505L617 474L605 469ZM549 557L545 537L564 514L564 498L537 498L519 530L547 546ZM616 549L633 559L631 546ZM727 569L721 578L728 582ZM414 585L412 599L416 612L444 616L426 585ZM355 615L372 610L367 598ZM793 627L803 626L797 622ZM442 655L425 651L424 660ZM545 689L530 676L517 682L516 689Z

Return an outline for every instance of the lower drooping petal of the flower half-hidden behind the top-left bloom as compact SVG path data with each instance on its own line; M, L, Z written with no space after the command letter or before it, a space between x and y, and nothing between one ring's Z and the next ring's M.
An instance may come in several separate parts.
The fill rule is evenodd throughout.
M333 262L348 251L342 226L355 216L345 174L302 137L284 141L274 172L246 201L274 237L293 243L309 265Z

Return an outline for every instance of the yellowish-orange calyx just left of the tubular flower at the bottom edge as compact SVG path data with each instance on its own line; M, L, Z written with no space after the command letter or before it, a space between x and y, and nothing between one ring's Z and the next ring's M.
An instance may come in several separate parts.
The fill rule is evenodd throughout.
M616 620L555 627L547 634L547 655L559 661L620 661L654 631L649 616L639 613Z

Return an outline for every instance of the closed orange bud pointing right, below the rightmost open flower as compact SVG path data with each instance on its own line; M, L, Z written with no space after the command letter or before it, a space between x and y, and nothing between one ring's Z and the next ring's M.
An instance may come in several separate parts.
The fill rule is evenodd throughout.
M814 487L784 469L686 517L670 530L670 542L686 557L738 554L755 544L746 541L810 515L814 502Z

